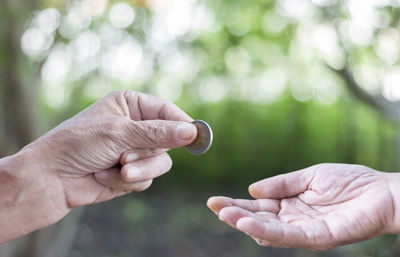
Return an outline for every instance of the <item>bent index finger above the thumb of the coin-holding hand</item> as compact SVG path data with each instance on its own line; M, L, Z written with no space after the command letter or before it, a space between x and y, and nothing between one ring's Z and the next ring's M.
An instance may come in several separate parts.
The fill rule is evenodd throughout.
M157 96L126 91L125 99L131 114L137 113L136 110L140 110L141 117L131 117L134 120L161 119L185 122L193 121L189 115L175 104Z

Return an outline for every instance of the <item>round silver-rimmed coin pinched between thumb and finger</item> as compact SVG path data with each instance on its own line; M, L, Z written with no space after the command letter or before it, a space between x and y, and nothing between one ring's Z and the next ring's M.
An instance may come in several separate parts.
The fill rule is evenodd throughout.
M211 127L202 120L192 121L197 128L197 138L186 149L195 155L204 154L210 149L212 144L212 130Z

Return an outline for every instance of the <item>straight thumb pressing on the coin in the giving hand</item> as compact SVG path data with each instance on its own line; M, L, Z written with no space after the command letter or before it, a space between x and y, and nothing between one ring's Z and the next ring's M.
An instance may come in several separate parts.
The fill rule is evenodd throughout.
M182 121L132 121L128 137L131 148L178 148L196 139L197 128Z

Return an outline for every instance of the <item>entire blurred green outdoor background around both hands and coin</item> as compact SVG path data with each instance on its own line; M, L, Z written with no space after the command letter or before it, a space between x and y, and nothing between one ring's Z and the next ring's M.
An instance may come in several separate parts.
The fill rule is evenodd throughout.
M207 121L203 156L171 151L143 193L74 210L4 257L399 256L396 236L312 253L259 247L206 208L322 162L400 168L398 0L3 0L0 153L111 90Z

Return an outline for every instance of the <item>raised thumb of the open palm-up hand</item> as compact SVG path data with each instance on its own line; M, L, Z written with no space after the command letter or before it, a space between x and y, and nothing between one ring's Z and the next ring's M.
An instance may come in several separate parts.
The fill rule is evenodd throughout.
M303 193L311 180L311 169L303 169L258 181L250 185L249 192L257 199L282 199Z

